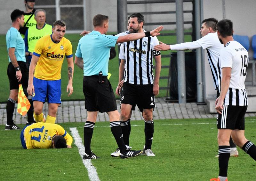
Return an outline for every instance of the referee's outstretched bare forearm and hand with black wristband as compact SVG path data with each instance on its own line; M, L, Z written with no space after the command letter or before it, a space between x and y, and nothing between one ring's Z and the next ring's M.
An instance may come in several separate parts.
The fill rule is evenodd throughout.
M125 35L125 36L119 36L117 41L116 41L116 44L118 43L123 43L123 42L127 42L127 41L132 41L132 40L139 40L143 37L146 37L146 33L147 33L147 36L157 36L159 35L160 31L164 28L164 26L158 26L156 29L150 31L149 33L148 32L143 32L143 33L131 33L131 34L128 34L128 35Z

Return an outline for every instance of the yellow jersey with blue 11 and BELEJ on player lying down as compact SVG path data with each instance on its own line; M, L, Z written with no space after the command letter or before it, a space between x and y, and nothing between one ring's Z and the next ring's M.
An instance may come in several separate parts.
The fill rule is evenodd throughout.
M73 138L60 125L38 122L27 126L24 130L27 149L52 148L52 137L55 134L63 136L67 145L72 144Z

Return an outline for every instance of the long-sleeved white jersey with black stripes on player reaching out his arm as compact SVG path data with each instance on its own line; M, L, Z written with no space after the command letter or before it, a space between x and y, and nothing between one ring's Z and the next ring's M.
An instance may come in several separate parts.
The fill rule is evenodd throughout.
M207 55L208 55L208 62L212 72L213 83L215 89L218 88L218 78L217 78L217 62L220 56L220 49L224 46L220 43L218 38L217 32L215 33L208 33L204 37L200 38L199 40L192 41L192 42L185 42L176 45L171 45L171 50L194 50L197 48L202 47L203 49L206 48Z

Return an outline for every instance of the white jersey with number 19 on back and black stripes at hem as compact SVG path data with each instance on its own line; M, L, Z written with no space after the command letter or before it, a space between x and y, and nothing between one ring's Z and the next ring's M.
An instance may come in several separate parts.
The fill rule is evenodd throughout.
M248 105L244 81L247 74L249 56L247 50L237 41L229 41L220 51L218 61L219 91L223 67L230 67L231 79L224 105Z

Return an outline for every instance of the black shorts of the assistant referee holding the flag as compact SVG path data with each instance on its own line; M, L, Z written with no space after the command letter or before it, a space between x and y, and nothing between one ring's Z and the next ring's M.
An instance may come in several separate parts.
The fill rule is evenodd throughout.
M18 79L16 78L16 70L13 67L12 63L10 62L7 68L7 75L9 78L10 83L10 90L13 89L19 89L19 84L21 83L24 93L27 93L28 88L28 67L26 65L26 62L17 61L20 66L21 71L21 81L18 82Z

